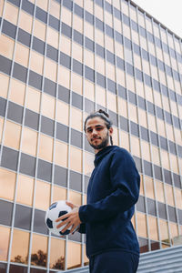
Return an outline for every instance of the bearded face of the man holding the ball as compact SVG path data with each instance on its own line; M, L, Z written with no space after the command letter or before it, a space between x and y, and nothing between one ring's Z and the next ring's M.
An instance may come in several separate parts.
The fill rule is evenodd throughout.
M109 146L109 136L113 133L113 128L107 129L105 120L99 116L90 118L86 122L86 138L96 153L106 146Z

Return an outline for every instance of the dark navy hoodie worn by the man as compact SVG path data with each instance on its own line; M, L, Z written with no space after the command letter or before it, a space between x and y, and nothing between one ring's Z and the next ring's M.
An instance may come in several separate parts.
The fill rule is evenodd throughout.
M86 255L122 250L139 254L131 223L140 177L126 149L107 146L96 154L87 188L87 205L79 208L80 232L86 232Z

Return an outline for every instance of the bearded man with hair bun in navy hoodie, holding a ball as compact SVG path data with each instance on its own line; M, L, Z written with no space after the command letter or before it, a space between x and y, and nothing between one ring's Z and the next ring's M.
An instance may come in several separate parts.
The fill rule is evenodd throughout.
M59 217L63 232L77 226L86 232L86 255L91 273L134 273L139 260L136 232L131 223L139 195L139 175L130 154L112 145L113 127L103 110L86 117L86 137L94 147L95 169L87 188L87 205Z

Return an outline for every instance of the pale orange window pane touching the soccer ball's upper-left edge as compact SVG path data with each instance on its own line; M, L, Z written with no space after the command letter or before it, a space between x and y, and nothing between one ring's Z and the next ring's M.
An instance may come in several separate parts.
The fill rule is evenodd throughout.
M36 181L35 207L46 210L50 204L50 184Z

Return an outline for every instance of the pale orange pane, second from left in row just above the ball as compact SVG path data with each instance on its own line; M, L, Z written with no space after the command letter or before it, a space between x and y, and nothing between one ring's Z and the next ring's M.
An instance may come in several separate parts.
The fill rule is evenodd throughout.
M21 204L32 206L33 191L34 191L34 179L31 177L25 177L23 175L19 175L18 183L17 183L16 201Z

